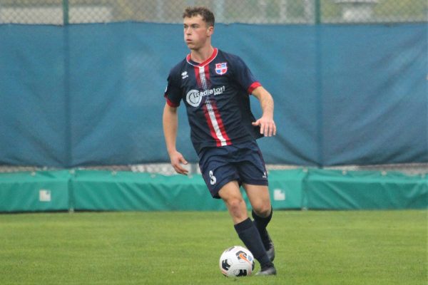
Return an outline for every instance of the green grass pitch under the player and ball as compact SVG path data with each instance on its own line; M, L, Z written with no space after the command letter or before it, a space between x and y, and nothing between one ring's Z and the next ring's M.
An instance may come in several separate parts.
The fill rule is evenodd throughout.
M278 275L228 279L227 212L0 215L0 284L424 284L427 211L275 211ZM258 265L256 266L258 270Z

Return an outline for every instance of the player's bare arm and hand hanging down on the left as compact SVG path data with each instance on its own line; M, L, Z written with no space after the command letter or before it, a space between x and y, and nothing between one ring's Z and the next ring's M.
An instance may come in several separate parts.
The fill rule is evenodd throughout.
M165 103L165 108L163 108L162 122L163 135L165 136L166 149L168 150L171 165L173 165L175 172L182 175L187 175L188 170L183 168L182 164L187 165L188 162L175 148L178 130L177 108L171 107L168 105L168 103Z

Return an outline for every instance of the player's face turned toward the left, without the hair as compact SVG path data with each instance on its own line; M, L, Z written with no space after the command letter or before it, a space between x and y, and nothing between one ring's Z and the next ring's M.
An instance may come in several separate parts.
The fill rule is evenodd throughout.
M183 19L184 41L191 50L199 50L210 45L209 38L213 34L213 26L207 26L202 16L197 15Z

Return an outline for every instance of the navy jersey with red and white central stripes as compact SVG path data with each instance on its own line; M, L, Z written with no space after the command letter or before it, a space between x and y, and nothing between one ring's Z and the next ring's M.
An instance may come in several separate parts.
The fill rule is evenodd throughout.
M243 60L217 48L203 63L190 54L168 76L168 105L185 103L190 138L196 152L260 138L260 127L250 110L249 95L260 83Z

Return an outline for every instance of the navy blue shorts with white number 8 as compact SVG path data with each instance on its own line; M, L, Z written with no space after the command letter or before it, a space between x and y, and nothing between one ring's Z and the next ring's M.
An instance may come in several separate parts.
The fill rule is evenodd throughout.
M230 181L239 185L267 185L267 171L262 152L255 140L224 147L206 147L199 153L199 168L211 196Z

